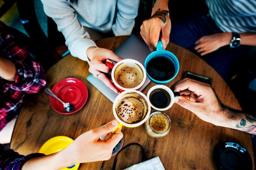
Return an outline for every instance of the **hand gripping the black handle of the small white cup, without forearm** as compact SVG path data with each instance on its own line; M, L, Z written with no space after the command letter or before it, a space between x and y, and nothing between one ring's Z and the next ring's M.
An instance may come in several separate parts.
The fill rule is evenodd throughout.
M200 119L215 125L223 122L223 106L211 86L192 79L182 79L171 87L180 92L174 102L195 113Z

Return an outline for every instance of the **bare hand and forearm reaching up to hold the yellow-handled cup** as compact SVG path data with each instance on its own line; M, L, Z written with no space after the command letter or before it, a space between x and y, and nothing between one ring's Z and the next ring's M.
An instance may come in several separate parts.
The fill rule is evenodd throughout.
M113 148L123 138L119 128L109 135L117 125L118 122L113 120L97 129L84 132L60 152L29 159L22 166L22 170L61 169L77 163L110 159ZM107 136L107 139L100 140L102 135Z

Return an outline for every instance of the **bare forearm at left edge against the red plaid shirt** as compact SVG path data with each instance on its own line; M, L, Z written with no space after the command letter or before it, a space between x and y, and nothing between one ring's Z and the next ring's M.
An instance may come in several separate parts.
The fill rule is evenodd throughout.
M0 77L7 81L15 81L17 69L14 63L0 56Z

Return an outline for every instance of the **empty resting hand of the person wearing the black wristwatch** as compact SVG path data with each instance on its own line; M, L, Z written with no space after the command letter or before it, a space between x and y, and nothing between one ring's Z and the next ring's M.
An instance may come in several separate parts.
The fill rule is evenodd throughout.
M194 49L203 56L218 50L222 46L228 45L231 38L232 33L230 32L207 35L196 41Z

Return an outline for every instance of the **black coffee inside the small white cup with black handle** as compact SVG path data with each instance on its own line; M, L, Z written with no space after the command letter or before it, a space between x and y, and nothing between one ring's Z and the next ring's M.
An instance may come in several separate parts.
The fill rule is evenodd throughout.
M164 89L155 89L150 93L149 101L156 108L163 109L170 104L171 97Z

